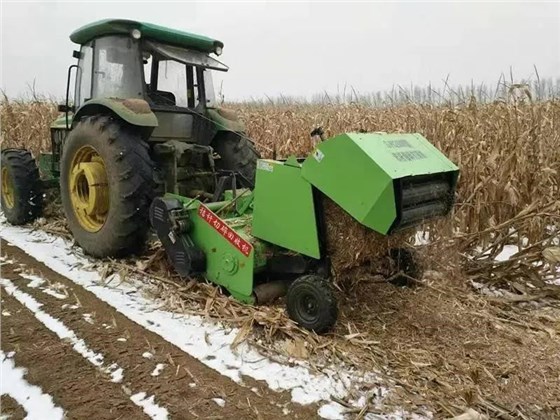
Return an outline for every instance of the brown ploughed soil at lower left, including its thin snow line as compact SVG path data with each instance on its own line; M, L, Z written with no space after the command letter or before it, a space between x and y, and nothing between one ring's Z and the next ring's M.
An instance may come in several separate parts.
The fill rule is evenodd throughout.
M316 406L293 404L257 381L233 382L19 248L4 240L1 248L2 351L67 418L164 418L165 410L174 419L316 417ZM61 339L56 321L75 337ZM2 396L2 414L23 413Z

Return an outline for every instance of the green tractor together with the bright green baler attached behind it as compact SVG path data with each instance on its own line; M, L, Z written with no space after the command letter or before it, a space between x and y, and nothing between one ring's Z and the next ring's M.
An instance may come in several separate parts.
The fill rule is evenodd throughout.
M247 303L286 295L317 333L336 322L324 202L391 235L453 208L458 168L419 134L347 133L309 156L259 159L234 114L215 106L210 56L223 44L146 23L107 20L71 35L75 105L52 125L52 153L2 152L2 208L22 224L60 185L76 242L94 256L138 250L151 227L182 277ZM67 94L68 96L68 94ZM407 249L389 256L419 277Z

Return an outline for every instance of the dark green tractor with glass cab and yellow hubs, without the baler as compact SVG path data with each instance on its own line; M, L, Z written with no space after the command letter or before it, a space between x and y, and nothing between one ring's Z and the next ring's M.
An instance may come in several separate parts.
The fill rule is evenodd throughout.
M212 71L228 70L212 56L222 42L130 20L95 22L70 39L81 48L64 114L51 125L52 153L39 157L41 178L29 152L2 155L9 222L40 215L36 191L60 182L76 242L96 257L124 256L142 247L157 195L212 198L228 171L238 174L236 186L253 185L259 155L214 95Z

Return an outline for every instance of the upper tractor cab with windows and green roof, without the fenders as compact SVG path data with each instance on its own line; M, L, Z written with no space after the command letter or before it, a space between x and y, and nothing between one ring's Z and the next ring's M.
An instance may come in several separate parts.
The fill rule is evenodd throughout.
M97 22L75 31L70 38L80 43L74 104L92 99L142 99L150 108L213 107L212 70L228 67L211 57L223 44L184 33L172 43L162 30L132 21ZM93 38L92 38L93 37ZM194 40L193 40L193 37Z

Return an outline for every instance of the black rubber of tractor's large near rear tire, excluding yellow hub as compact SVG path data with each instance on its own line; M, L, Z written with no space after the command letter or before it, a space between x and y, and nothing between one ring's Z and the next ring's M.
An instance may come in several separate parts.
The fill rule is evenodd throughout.
M103 159L109 186L107 216L95 232L78 221L69 191L73 158L85 146ZM148 144L134 127L110 116L86 117L68 135L60 164L60 195L70 231L87 254L123 257L144 247L157 187L148 152Z

